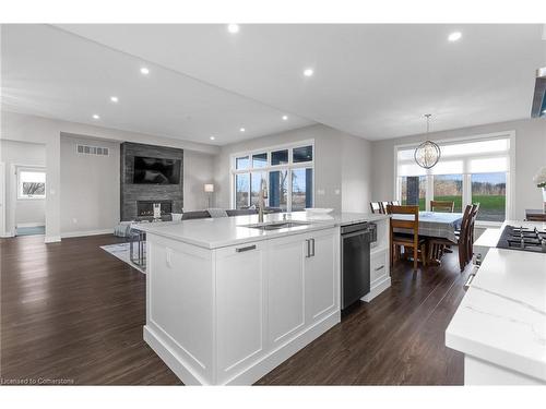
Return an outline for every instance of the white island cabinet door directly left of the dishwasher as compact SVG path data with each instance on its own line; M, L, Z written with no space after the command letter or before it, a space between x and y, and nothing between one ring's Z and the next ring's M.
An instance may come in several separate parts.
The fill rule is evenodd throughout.
M334 230L311 236L311 256L306 258L306 317L309 324L337 309L340 292L336 246L340 237ZM314 249L313 249L314 248Z

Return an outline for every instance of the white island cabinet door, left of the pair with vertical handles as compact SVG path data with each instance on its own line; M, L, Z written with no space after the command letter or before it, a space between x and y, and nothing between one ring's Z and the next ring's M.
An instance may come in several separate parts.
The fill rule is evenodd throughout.
M281 344L305 325L304 234L271 240L268 251L268 326L271 345Z

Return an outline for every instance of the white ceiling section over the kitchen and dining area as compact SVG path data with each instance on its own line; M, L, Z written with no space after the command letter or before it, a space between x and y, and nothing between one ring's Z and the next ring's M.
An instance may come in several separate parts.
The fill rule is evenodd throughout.
M63 28L369 140L529 118L546 65L539 24Z

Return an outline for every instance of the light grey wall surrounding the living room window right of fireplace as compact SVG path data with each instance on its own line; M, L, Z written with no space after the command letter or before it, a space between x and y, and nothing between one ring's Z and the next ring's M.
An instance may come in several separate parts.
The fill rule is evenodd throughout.
M222 146L214 164L216 206L230 206L229 159L233 154L306 140L314 140L314 206L332 207L337 212L367 212L369 142L322 124ZM342 199L343 195L346 197Z

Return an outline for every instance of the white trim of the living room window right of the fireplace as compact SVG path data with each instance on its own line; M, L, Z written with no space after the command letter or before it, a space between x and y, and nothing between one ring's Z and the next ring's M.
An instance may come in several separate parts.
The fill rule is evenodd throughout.
M301 163L293 163L293 149L295 147L304 147L304 146L312 146L312 160L309 161L301 161ZM283 165L269 165L271 164L271 153L275 151L283 151L283 149L288 149L288 164L283 164ZM268 166L261 167L261 168L253 168L252 167L252 155L254 154L268 154ZM241 156L248 156L249 158L249 168L247 169L236 169L236 160L238 157ZM314 187L316 187L316 172L314 172L314 158L316 158L316 151L314 151L314 140L304 140L304 141L297 141L297 142L290 142L287 144L282 144L282 145L274 145L274 146L268 146L268 147L262 147L262 148L256 148L251 151L242 151L242 152L237 152L234 153L229 156L229 206L230 208L236 208L236 191L235 191L235 176L239 173L252 173L252 172L265 172L268 173L266 177L266 184L269 189L269 172L270 171L275 171L275 170L288 170L288 192L287 192L287 197L286 197L286 212L292 212L292 170L293 169L312 169L312 197L311 202L314 206ZM251 189L251 187L250 187ZM250 205L250 194L249 194L249 205ZM265 203L266 206L269 206L269 197Z

